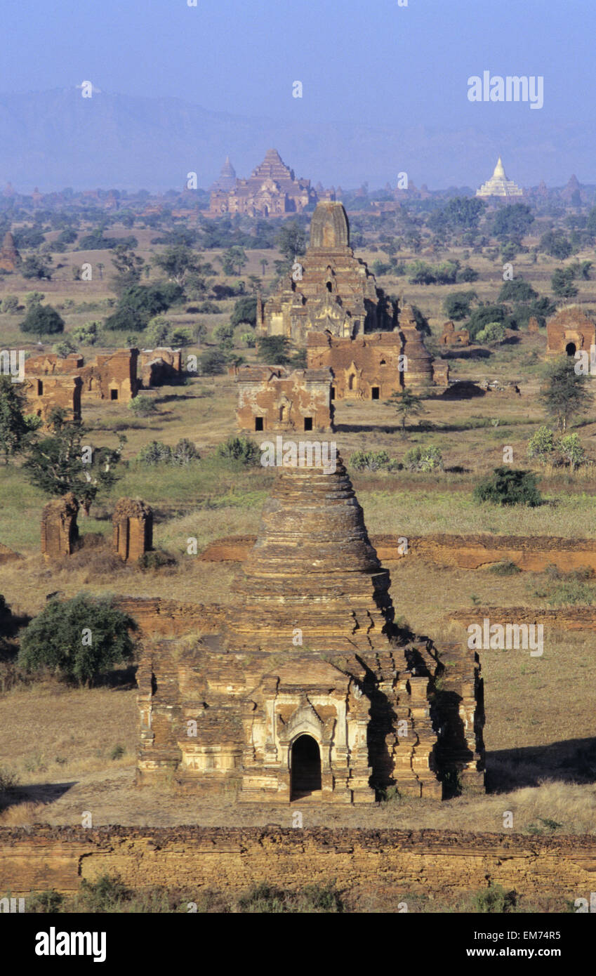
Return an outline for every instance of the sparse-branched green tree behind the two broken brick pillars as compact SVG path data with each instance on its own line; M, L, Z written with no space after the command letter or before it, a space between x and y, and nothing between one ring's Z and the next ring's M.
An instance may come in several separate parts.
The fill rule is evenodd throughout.
M60 497L72 492L88 515L99 492L109 491L119 477L116 468L126 437L120 436L116 449L93 449L87 427L79 421L67 421L60 408L50 414L48 427L48 434L27 451L22 466L25 474L47 495ZM91 452L84 450L88 447Z

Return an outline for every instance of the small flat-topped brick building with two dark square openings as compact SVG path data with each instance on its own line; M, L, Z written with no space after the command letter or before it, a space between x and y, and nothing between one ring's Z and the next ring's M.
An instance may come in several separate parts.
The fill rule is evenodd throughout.
M241 366L236 385L240 430L333 430L329 369Z

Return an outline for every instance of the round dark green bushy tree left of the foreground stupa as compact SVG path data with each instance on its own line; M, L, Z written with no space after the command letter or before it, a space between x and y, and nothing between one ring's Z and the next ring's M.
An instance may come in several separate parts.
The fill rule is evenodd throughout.
M79 593L51 600L20 638L18 663L25 671L52 671L79 686L92 687L103 671L131 661L134 621L108 599Z

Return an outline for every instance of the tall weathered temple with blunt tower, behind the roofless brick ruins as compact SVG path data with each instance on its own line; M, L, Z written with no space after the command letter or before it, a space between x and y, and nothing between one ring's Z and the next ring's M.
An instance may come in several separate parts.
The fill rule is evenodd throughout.
M317 204L310 244L296 264L264 307L258 301L258 335L304 344L309 332L328 330L353 339L395 324L389 303L377 296L375 276L354 258L347 214L339 202Z

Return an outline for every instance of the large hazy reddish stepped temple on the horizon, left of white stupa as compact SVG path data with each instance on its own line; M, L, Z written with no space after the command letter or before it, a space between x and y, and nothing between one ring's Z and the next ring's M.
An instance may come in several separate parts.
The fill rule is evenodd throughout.
M335 199L335 190L317 191L310 180L297 180L294 170L286 166L277 149L267 149L262 163L248 180L238 180L229 156L221 168L219 180L211 187L209 214L245 214L248 217L272 217L301 214L320 197Z

